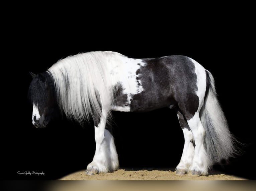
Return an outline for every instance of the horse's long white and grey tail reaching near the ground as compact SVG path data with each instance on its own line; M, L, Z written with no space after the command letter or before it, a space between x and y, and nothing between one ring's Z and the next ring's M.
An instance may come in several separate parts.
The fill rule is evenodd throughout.
M217 99L214 78L207 70L206 81L206 97L200 116L205 128L204 145L213 164L233 156L236 141L228 129L226 117Z

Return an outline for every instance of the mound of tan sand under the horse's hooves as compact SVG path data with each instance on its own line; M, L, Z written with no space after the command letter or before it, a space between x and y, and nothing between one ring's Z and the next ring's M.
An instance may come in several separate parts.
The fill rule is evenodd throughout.
M225 174L214 174L209 176L198 176L198 175L176 175L172 171L162 170L137 170L130 171L120 169L112 173L102 173L88 176L85 174L85 170L78 171L69 174L60 180L246 180L244 178L225 175Z

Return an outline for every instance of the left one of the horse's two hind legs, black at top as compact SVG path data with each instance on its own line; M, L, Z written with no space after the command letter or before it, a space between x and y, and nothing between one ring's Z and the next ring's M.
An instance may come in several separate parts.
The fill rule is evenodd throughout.
M176 167L176 174L183 175L188 173L188 169L192 163L194 157L195 141L183 114L180 111L177 111L177 116L184 134L185 143L180 162Z

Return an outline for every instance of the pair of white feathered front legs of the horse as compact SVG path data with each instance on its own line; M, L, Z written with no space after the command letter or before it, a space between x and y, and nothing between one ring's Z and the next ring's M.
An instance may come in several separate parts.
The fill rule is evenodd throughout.
M88 175L112 172L119 167L114 137L105 128L106 118L107 111L103 110L100 122L94 126L96 150L93 161L87 166L86 174Z

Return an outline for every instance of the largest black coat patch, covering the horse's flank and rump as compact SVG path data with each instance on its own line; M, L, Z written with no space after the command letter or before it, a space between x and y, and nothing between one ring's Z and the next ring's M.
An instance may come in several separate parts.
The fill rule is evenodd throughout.
M136 71L143 92L133 95L131 111L150 111L178 104L186 120L194 116L199 106L196 92L195 64L186 56L144 59Z

